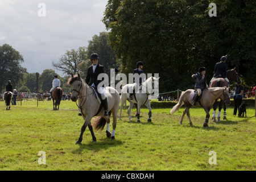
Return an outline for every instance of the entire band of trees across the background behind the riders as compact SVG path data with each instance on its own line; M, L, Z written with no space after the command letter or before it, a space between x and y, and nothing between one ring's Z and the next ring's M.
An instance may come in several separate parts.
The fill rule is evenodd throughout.
M209 15L210 3L216 4L217 16ZM108 32L94 35L88 47L66 51L52 66L63 72L61 82L65 84L71 73L79 72L85 78L93 52L100 55L99 63L109 76L110 68L126 75L133 73L136 63L143 61L146 74L159 73L163 93L193 88L191 75L199 67L207 68L209 84L214 65L226 56L228 69L236 67L242 84L253 86L255 5L254 0L109 0L102 19ZM24 60L18 51L7 44L0 46L0 61L0 91L10 79L17 86L36 91L35 73L27 73L20 66ZM39 78L42 92L51 88L55 75L51 69L44 72Z

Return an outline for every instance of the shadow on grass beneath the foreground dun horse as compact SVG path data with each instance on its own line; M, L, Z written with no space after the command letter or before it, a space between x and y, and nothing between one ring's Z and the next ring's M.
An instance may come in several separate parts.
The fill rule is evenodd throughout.
M79 146L79 148L77 148L76 150L73 150L72 153L73 154L80 154L82 151L84 150L92 150L94 152L98 152L101 150L108 150L109 147L116 147L123 144L121 140L111 140L108 138L105 139L97 139L97 142L84 142L80 145L76 145ZM74 142L74 146L75 146L75 142Z

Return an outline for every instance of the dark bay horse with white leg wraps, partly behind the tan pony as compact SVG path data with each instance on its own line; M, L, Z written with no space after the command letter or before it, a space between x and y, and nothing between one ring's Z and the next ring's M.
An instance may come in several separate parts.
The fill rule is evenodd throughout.
M235 82L238 82L238 84L241 84L241 82L242 82L241 78L238 76L238 74L236 72L236 67L227 71L226 77L229 79L229 81L235 81ZM215 78L212 81L212 83L209 85L210 88L219 87L219 86L220 87L222 87L222 86L228 87L229 85L228 85L228 82L226 82L226 80L224 80L224 78ZM222 105L224 105L223 119L226 119L226 104L223 100L221 100L220 105L218 107L218 115L217 115L218 122L221 121L220 114L221 114ZM213 122L216 122L216 109L217 109L217 100L213 104L213 117L212 117Z

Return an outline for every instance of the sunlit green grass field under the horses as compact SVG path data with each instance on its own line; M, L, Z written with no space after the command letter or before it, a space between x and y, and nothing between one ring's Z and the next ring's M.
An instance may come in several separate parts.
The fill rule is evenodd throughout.
M157 101L156 101L157 102ZM228 121L204 128L205 112L191 109L193 126L185 116L179 125L184 107L174 114L171 108L142 109L141 123L127 108L118 120L115 140L106 138L105 129L94 131L92 142L88 128L82 145L76 145L82 126L77 106L61 101L60 110L52 110L52 102L22 102L6 110L0 102L0 169L1 170L255 170L255 114L247 107L247 118L238 118L233 107L227 109ZM132 110L135 115L135 109ZM210 112L212 116L212 110ZM112 123L110 123L112 131ZM46 154L46 164L39 164L39 151ZM209 164L210 151L216 152L216 164Z

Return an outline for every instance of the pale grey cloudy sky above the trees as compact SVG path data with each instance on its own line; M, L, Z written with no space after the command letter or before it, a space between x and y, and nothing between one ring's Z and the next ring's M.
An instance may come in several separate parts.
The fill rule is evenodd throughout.
M88 46L106 31L102 22L108 0L1 0L0 46L23 55L29 73L54 69L66 50ZM56 71L60 75L61 72Z

